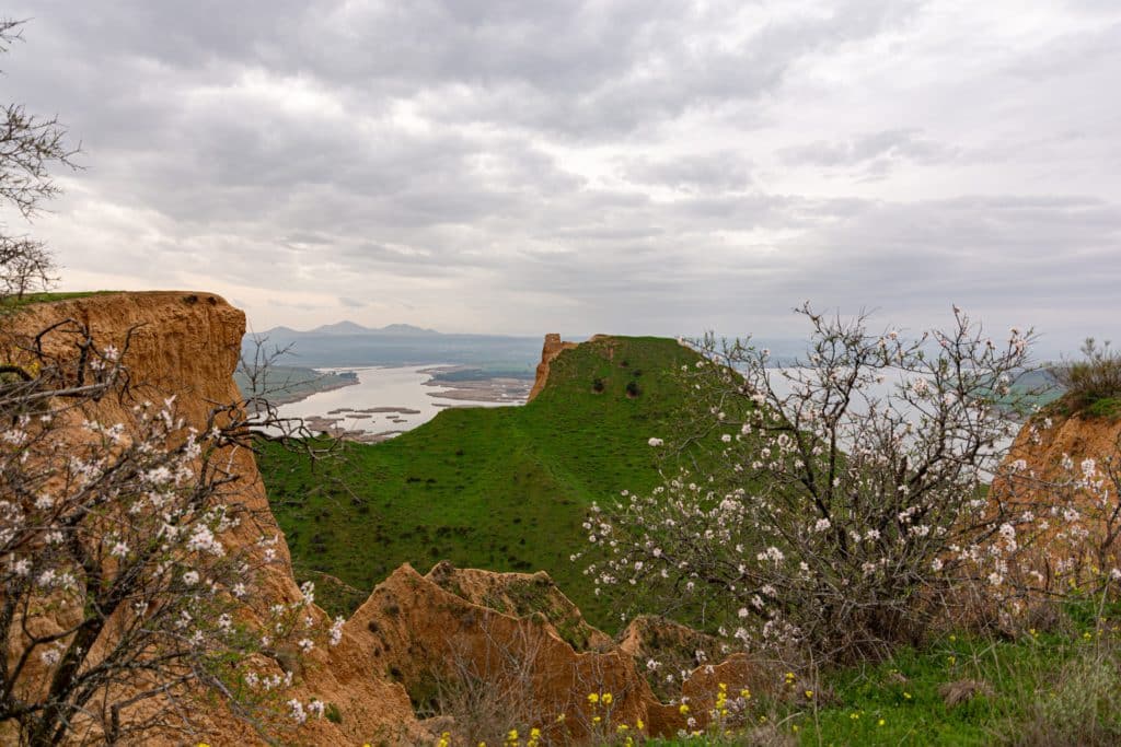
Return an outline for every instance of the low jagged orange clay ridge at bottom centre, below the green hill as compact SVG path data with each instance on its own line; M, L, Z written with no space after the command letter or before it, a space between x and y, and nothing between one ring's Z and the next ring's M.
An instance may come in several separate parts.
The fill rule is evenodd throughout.
M473 708L497 703L483 726L507 719L499 734L538 727L546 739L581 744L594 743L595 734L614 734L620 725L641 723L660 736L703 728L721 684L732 698L744 689L778 693L767 667L743 654L725 657L715 638L663 618L640 618L615 644L583 622L546 573L464 570L443 562L420 576L402 566L345 629L363 642L368 669L400 682L418 712L439 713L434 730L447 729L467 744L487 735L472 730L479 723L461 720L456 708L465 701ZM686 664L705 659L697 651L710 652L714 663ZM673 671L675 692L659 699L643 676L646 661L636 665L639 655L663 656L659 673ZM671 669L675 663L682 669ZM610 707L590 702L593 693L611 693ZM680 711L683 700L688 715Z

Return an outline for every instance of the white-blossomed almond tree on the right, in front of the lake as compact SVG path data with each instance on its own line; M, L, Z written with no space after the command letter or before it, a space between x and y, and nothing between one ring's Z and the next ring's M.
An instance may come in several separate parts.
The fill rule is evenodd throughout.
M1056 588L1027 559L1080 514L1060 493L989 492L1031 333L994 339L955 307L949 329L907 340L798 311L807 356L786 367L745 342L697 344L697 418L650 442L715 456L593 508L600 592L643 590L743 644L822 659L916 641L970 595L1007 618Z

